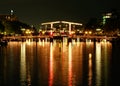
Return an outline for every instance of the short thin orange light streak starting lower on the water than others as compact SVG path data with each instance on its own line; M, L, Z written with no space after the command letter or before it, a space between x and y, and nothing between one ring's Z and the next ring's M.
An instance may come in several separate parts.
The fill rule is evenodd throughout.
M89 53L89 60L88 60L88 86L92 86L92 54Z

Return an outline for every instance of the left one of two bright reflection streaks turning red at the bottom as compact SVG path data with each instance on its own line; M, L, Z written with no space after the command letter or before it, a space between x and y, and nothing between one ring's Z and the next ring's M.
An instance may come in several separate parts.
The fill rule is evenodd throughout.
M53 45L50 43L49 86L53 85Z

